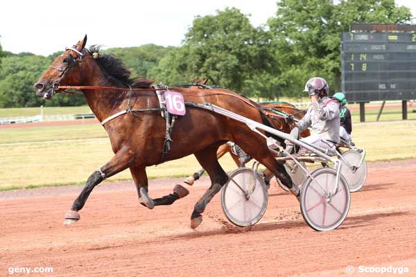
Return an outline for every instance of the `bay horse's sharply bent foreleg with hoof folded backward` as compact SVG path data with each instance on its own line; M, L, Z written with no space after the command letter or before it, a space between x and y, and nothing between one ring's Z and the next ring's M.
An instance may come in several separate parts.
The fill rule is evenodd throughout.
M183 186L176 185L173 188L173 193L166 195L161 198L152 199L148 195L148 177L146 174L146 168L144 167L132 167L130 168L132 172L133 180L137 188L137 193L139 195L139 202L147 208L153 209L155 206L159 205L171 205L177 199L185 197L189 194L189 190Z

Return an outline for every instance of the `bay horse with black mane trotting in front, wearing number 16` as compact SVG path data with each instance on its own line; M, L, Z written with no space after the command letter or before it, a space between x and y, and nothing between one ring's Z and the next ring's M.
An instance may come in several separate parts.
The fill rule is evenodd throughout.
M279 178L293 195L299 197L300 189L293 184L284 166L274 159L262 136L252 132L244 123L206 109L187 106L186 115L178 116L171 134L171 150L162 159L166 120L160 114L152 81L131 80L130 71L120 60L111 55L101 55L97 46L87 49L86 43L87 35L73 47L66 48L35 83L37 96L44 99L51 99L55 93L65 89L80 89L105 128L114 152L110 161L89 176L80 195L65 214L64 224L80 220L78 212L95 186L127 168L141 204L148 208L164 204L148 196L146 167L194 154L211 179L211 186L196 202L191 213L191 228L195 229L202 223L202 213L207 204L229 179L216 157L218 147L227 141L238 143ZM198 88L178 88L177 91L187 102L208 102L270 125L259 106L232 91ZM281 123L282 126L284 124ZM277 139L284 145L282 139ZM179 199L183 195L177 190L171 196Z

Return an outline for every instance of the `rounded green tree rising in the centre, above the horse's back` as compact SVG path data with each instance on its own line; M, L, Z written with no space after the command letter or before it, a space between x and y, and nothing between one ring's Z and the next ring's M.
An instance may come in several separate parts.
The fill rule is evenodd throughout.
M236 8L196 17L182 46L162 58L151 74L165 82L210 76L229 89L253 93L254 76L273 64L270 38Z

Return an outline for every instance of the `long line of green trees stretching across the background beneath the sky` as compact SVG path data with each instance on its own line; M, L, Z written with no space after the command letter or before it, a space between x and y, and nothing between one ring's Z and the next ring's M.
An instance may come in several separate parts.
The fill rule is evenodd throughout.
M281 0L255 28L236 8L197 16L179 47L154 44L110 48L132 76L175 84L210 78L254 98L300 96L307 79L321 76L340 89L340 33L352 22L408 23L409 8L395 0ZM0 46L0 107L83 105L82 95L35 96L33 84L60 53L13 54Z

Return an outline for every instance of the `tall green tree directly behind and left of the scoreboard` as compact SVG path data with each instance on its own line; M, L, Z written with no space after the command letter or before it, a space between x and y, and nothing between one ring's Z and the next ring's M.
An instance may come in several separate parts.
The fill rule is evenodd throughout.
M268 20L277 39L276 56L284 64L286 91L299 93L319 75L340 89L340 33L352 22L404 23L412 17L394 0L283 0Z

